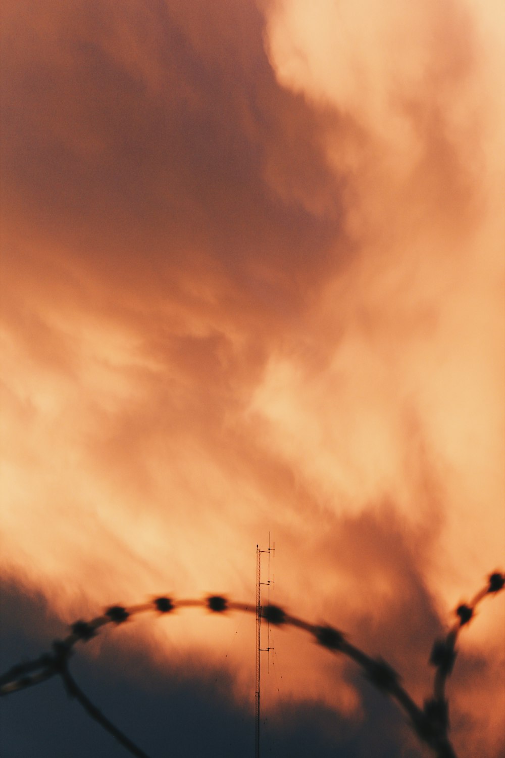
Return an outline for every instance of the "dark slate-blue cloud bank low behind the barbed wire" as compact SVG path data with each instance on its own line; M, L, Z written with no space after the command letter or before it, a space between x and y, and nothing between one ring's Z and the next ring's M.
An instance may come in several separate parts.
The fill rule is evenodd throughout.
M2 605L10 619L2 638L2 672L16 656L37 656L41 646L48 647L51 638L64 633L61 623L47 616L42 597L29 597L11 584L2 590ZM229 671L211 669L195 678L183 665L179 661L154 666L148 650L135 637L125 644L117 630L101 646L99 658L90 659L81 650L71 659L70 669L87 696L153 758L167 750L174 756L248 753L254 741L254 713L245 703L233 700ZM282 690L282 681L277 686ZM366 687L363 690L367 702L369 693ZM5 755L35 758L69 750L76 758L104 751L118 758L125 754L67 696L58 679L9 697L3 705L0 747ZM401 722L380 701L371 710L373 722L363 731L356 722L310 702L285 703L272 713L266 709L260 733L262 753L303 756L307 750L316 750L320 756L364 758L379 735L377 754L399 756ZM384 718L387 731L381 726ZM337 743L340 747L335 753Z

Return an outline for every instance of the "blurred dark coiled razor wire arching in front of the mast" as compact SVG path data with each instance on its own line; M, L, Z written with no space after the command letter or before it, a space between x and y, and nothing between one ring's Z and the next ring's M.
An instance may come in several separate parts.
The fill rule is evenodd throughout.
M280 606L260 607L260 619L276 626L293 626L310 634L317 644L326 647L332 653L341 653L354 660L363 670L366 678L383 694L396 701L407 714L410 725L419 739L432 748L437 758L457 758L454 747L450 744L449 710L445 695L447 678L454 667L457 656L456 642L463 626L469 624L475 615L479 603L490 594L497 594L505 586L505 575L494 572L488 577L488 583L480 590L470 603L463 603L455 610L456 620L446 637L438 639L432 648L429 662L435 667L433 694L422 707L416 705L407 691L401 686L400 675L382 658L372 658L363 650L347 641L342 631L332 626L321 626L298 619L285 612ZM71 697L86 709L86 713L107 729L113 737L137 758L148 758L147 754L136 746L126 735L112 724L101 711L80 690L68 670L68 659L78 642L86 643L96 636L105 625L121 625L127 619L139 613L157 612L166 615L177 609L206 608L214 613L226 611L256 612L256 607L246 603L227 600L221 595L210 595L201 600L174 600L172 597L157 597L149 603L136 606L111 606L103 615L91 621L79 620L70 626L70 634L63 640L52 643L51 652L45 653L33 661L13 666L0 676L0 695L14 692L40 684L42 681L59 675Z

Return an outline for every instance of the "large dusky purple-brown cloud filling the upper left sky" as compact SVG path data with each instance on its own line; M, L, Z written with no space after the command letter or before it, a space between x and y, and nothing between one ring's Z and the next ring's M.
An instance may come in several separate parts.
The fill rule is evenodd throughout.
M274 322L303 306L335 265L338 182L320 119L276 83L254 6L193 5L185 19L176 6L55 4L51 35L50 5L24 10L5 42L5 211L37 256L61 250L154 299L214 274L235 315L238 293ZM282 199L276 174L331 198L326 214Z

